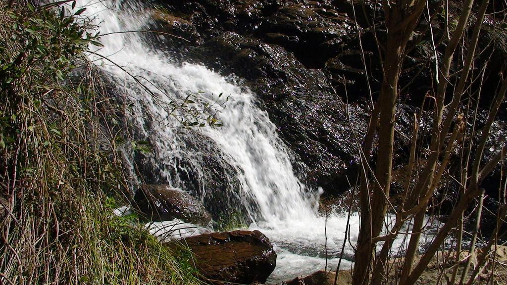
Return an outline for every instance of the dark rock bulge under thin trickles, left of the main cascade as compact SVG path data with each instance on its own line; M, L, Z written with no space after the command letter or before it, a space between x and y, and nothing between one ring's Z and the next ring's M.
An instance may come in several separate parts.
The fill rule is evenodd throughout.
M149 121L147 115L144 118ZM146 125L147 132L157 131L152 130L150 125ZM135 130L134 127L131 129ZM236 221L238 223L250 223L249 216L244 215L246 205L253 209L256 203L240 195L238 170L227 162L220 147L194 130L175 130L175 134L174 139L179 140L181 148L177 155L163 157L161 154L165 153L157 150L150 153L135 152L134 162L141 183L166 184L169 181L172 186L202 200L213 221L218 224L227 224L237 217L245 219ZM136 136L146 137L142 132Z

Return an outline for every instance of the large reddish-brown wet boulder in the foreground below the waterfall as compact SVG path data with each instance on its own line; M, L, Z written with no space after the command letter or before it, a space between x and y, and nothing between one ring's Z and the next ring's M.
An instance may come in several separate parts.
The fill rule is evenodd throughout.
M190 247L197 269L211 281L264 283L276 266L273 246L260 231L209 233L180 242Z

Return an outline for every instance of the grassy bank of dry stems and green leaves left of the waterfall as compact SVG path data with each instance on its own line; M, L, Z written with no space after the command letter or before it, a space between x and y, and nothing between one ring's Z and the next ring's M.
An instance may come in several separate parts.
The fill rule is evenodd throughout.
M100 122L115 109L71 6L0 1L0 283L198 283L190 256L113 215L126 183Z

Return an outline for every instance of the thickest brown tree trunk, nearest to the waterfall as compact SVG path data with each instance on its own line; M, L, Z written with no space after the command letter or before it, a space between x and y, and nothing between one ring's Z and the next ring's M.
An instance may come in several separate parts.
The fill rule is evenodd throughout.
M378 149L381 151L377 153L371 197L369 196L369 187L365 186L368 181L361 179L360 189L363 192L359 194L361 197L361 224L354 257L352 276L354 285L368 285L370 283L370 270L375 254L375 243L372 239L380 234L384 226L391 185L398 81L405 48L426 5L425 0L412 1L410 4L405 1L389 4L385 0L382 3L388 32L383 57L384 77L377 102L379 109Z

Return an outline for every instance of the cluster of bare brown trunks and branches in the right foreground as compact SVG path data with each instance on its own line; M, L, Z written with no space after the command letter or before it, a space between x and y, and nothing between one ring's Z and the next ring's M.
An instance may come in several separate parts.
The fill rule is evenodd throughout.
M484 198L481 183L495 167L498 167L507 151L507 145L504 145L496 155L488 160L484 159L492 125L507 91L507 77L500 75L499 87L489 102L486 122L481 127L478 126L481 87L477 90L473 84L479 82L481 86L486 72L485 68L478 68L486 65L484 62L479 64L480 60L484 61L484 57L480 55L486 48L481 50L478 46L490 3L488 0L474 2L478 1L459 2L460 7L454 13L451 13L447 0L439 1L438 4L426 0L383 0L381 3L386 30L385 39L377 37L375 26L371 29L379 46L383 80L380 95L374 104L368 132L360 148L361 225L353 269L354 284L387 283L389 276L395 276L395 283L404 285L416 283L430 261L442 250L446 239L453 235L456 229L458 229L456 252L447 255L454 269L447 281L451 284L456 282L471 284L485 268L490 250L499 240L499 228L505 219L506 209L505 204L501 202L505 197L504 187L499 190L501 205L496 228L486 246L482 248L481 254L476 258L470 257L475 255L480 227ZM443 17L444 20L436 23L437 16ZM493 28L504 23L503 14L493 13L489 16L494 17L493 23L488 24ZM440 38L433 32L433 25L438 24L442 31ZM426 68L431 69L432 83L428 86L421 112L414 115L412 144L407 165L408 177L400 202L392 204L389 197L393 157L396 153L395 112L399 103L399 81L408 53L428 35L431 37L433 51L430 56L433 58L428 60ZM494 49L494 43L490 42L487 49ZM456 66L459 68L455 68ZM366 71L368 73L368 70ZM423 120L423 116L431 116L431 120ZM430 132L424 135L419 129L423 122L428 121L431 125L424 127L429 127ZM375 149L378 150L376 153ZM371 157L374 154L376 154L375 166L371 166ZM457 174L450 170L450 165L456 159L462 168ZM374 170L371 170L372 168ZM416 259L425 217L444 175L453 177L458 184L459 193L455 197L455 204L446 222L441 225L422 256ZM470 248L467 248L467 255L463 258L460 255L464 251L461 247L463 216L474 201L479 204L475 217L477 224L472 233ZM383 229L388 212L395 216L395 222L385 234ZM412 225L411 233L402 231L402 227L407 223ZM397 266L393 268L392 262L389 261L393 241L400 235L406 235L408 247L403 261L396 263ZM377 251L378 248L380 251ZM458 268L461 276L457 276Z

